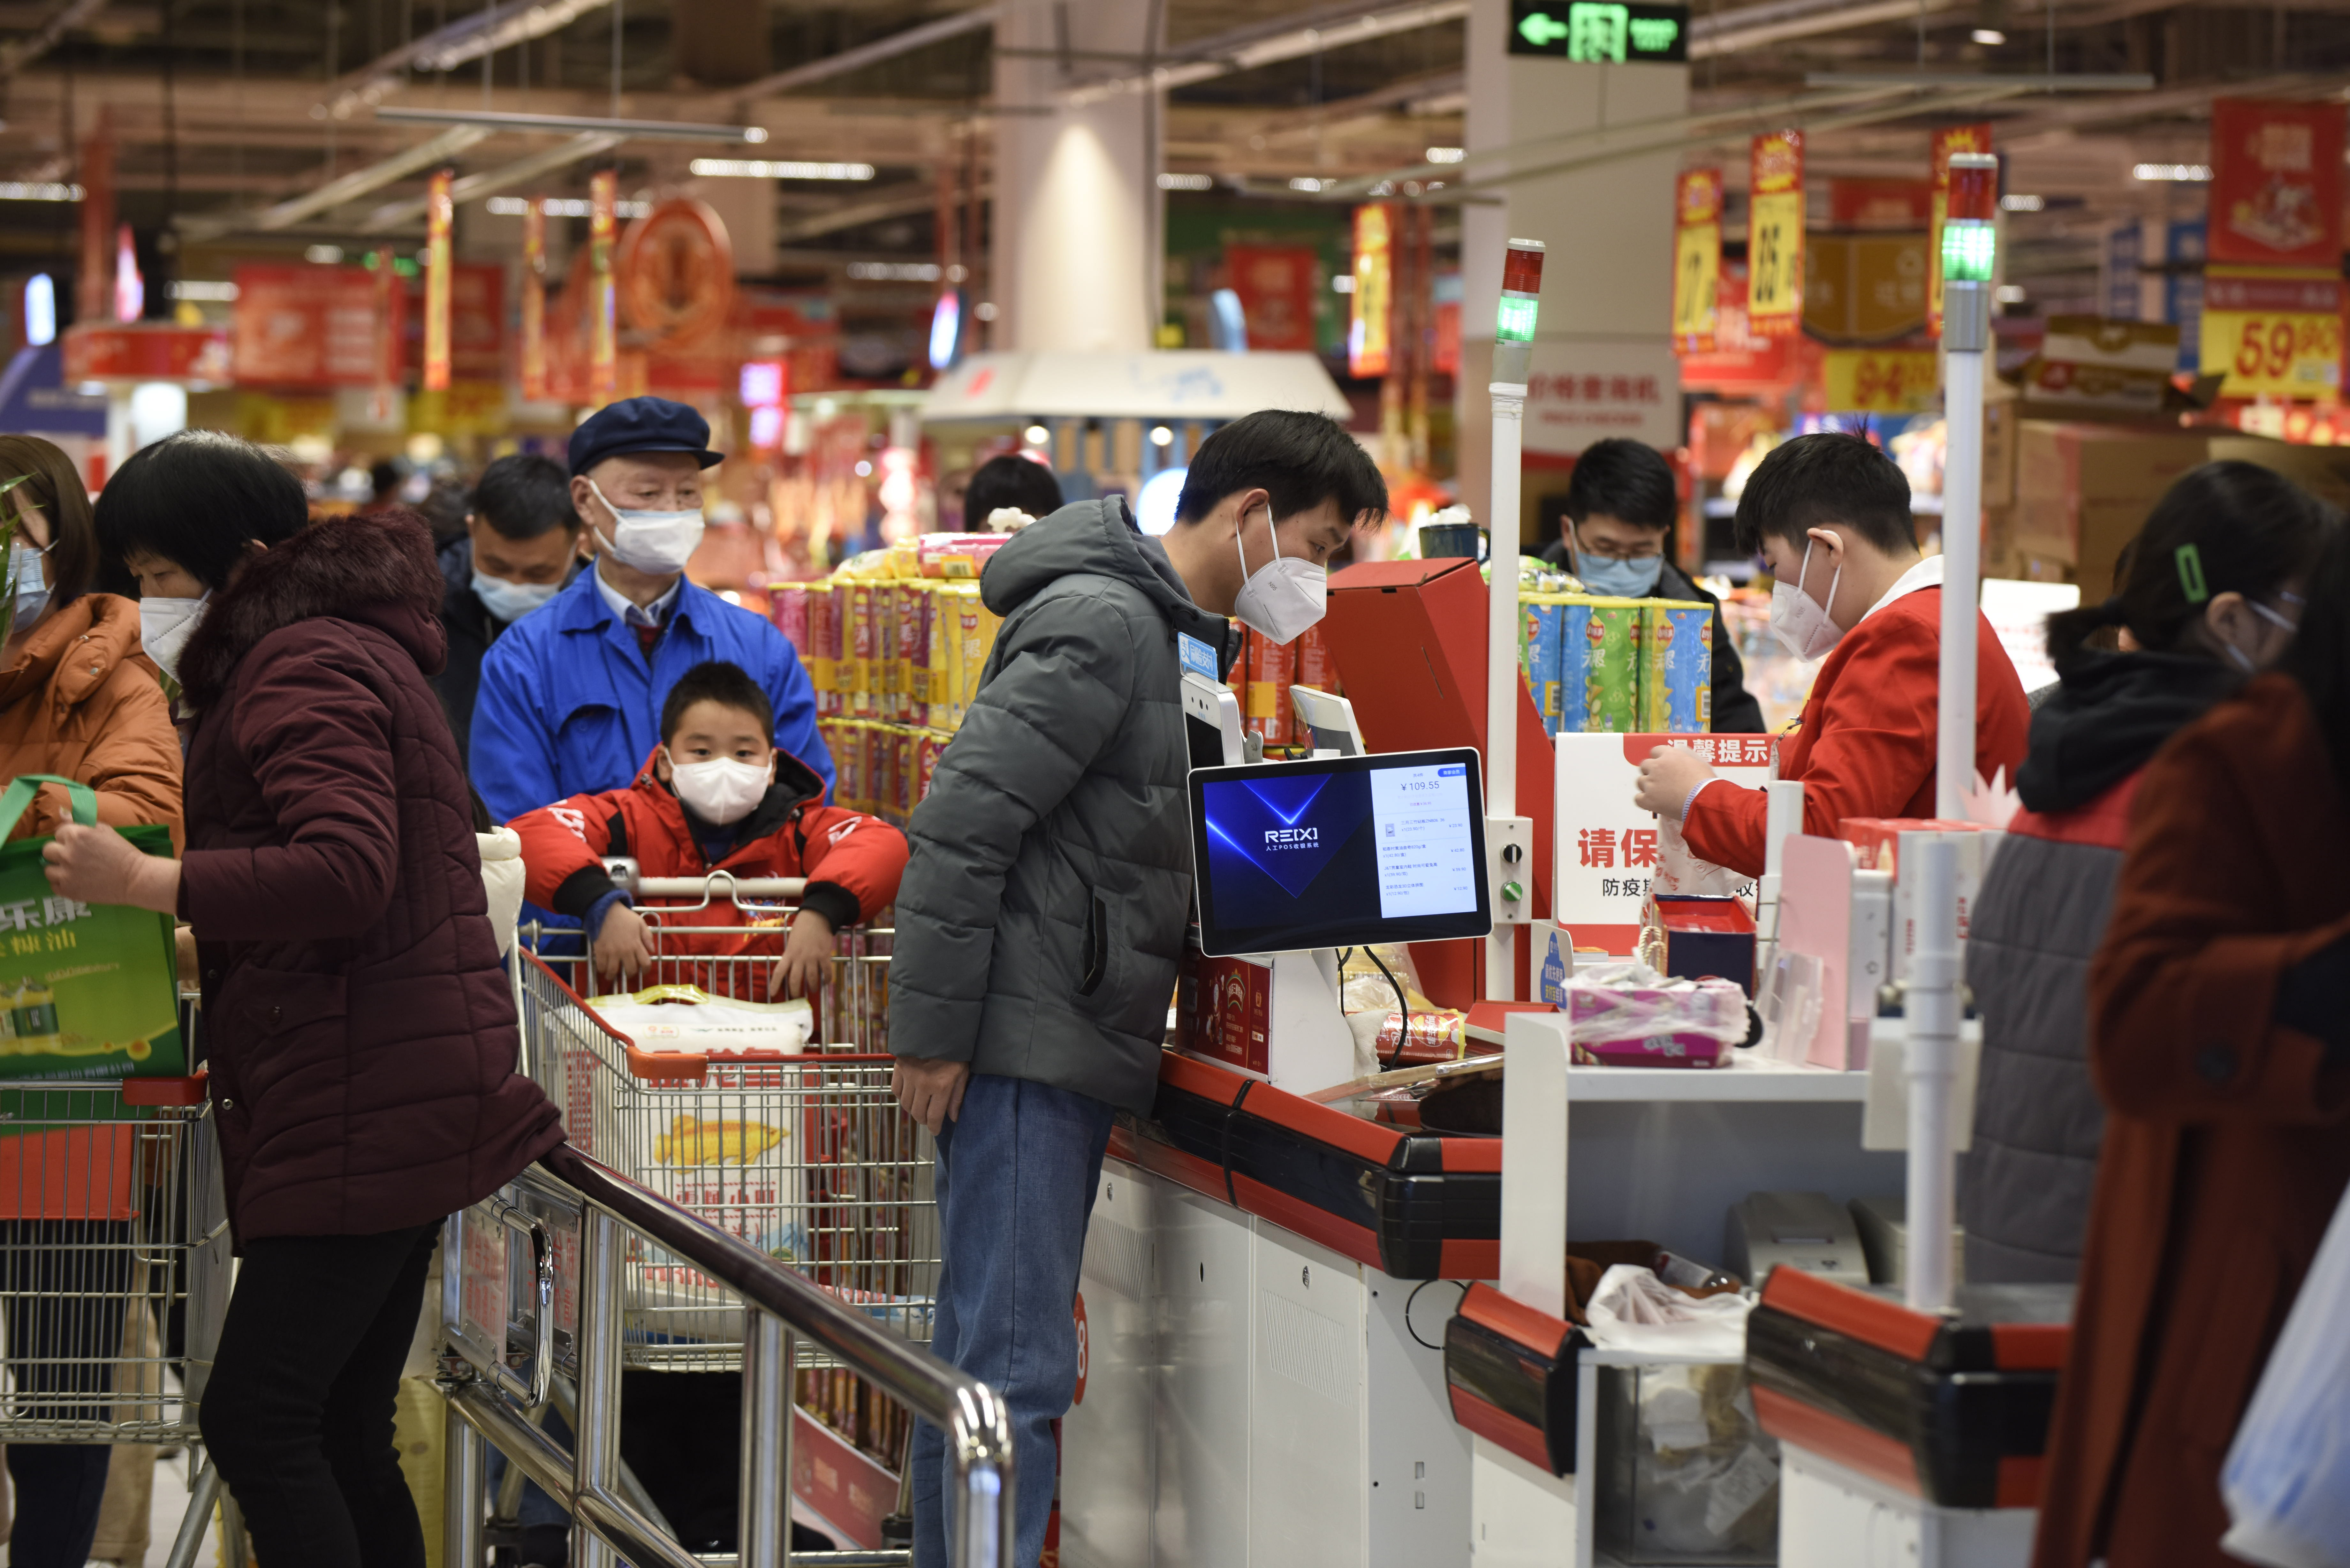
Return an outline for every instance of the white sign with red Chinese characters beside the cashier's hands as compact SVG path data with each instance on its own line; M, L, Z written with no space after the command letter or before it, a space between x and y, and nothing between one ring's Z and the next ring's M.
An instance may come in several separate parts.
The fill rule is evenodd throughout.
M1551 842L1551 917L1577 947L1629 954L1640 940L1640 900L1657 877L1664 830L1631 804L1640 764L1659 745L1687 745L1734 785L1770 783L1772 736L1558 736L1558 820Z

